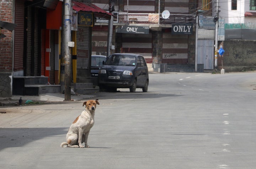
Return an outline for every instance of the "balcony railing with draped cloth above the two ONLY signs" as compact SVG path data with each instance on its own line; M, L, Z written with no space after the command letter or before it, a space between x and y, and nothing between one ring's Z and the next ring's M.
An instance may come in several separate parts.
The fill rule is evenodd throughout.
M196 22L195 15L170 14L169 18L163 19L158 13L127 13L118 12L119 23L137 24L173 24Z

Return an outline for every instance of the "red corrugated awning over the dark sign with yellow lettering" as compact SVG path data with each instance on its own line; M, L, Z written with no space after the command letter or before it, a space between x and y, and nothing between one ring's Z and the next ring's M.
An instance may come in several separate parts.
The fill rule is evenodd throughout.
M73 2L73 10L75 11L87 11L87 12L93 12L94 16L96 17L100 17L100 18L105 18L110 20L111 18L111 13L104 11L103 9L101 9L100 7L97 7L94 4L84 4L82 2L76 2L76 1L72 1Z

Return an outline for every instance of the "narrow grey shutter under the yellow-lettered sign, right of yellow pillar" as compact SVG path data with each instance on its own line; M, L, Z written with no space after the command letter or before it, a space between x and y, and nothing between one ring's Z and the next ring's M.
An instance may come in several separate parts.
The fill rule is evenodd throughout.
M78 26L76 31L77 69L89 69L89 27Z

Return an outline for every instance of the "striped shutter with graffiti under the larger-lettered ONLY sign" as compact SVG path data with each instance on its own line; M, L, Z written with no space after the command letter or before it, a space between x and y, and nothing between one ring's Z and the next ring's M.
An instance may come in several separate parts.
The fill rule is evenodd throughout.
M169 64L187 64L188 36L163 33L162 62Z

